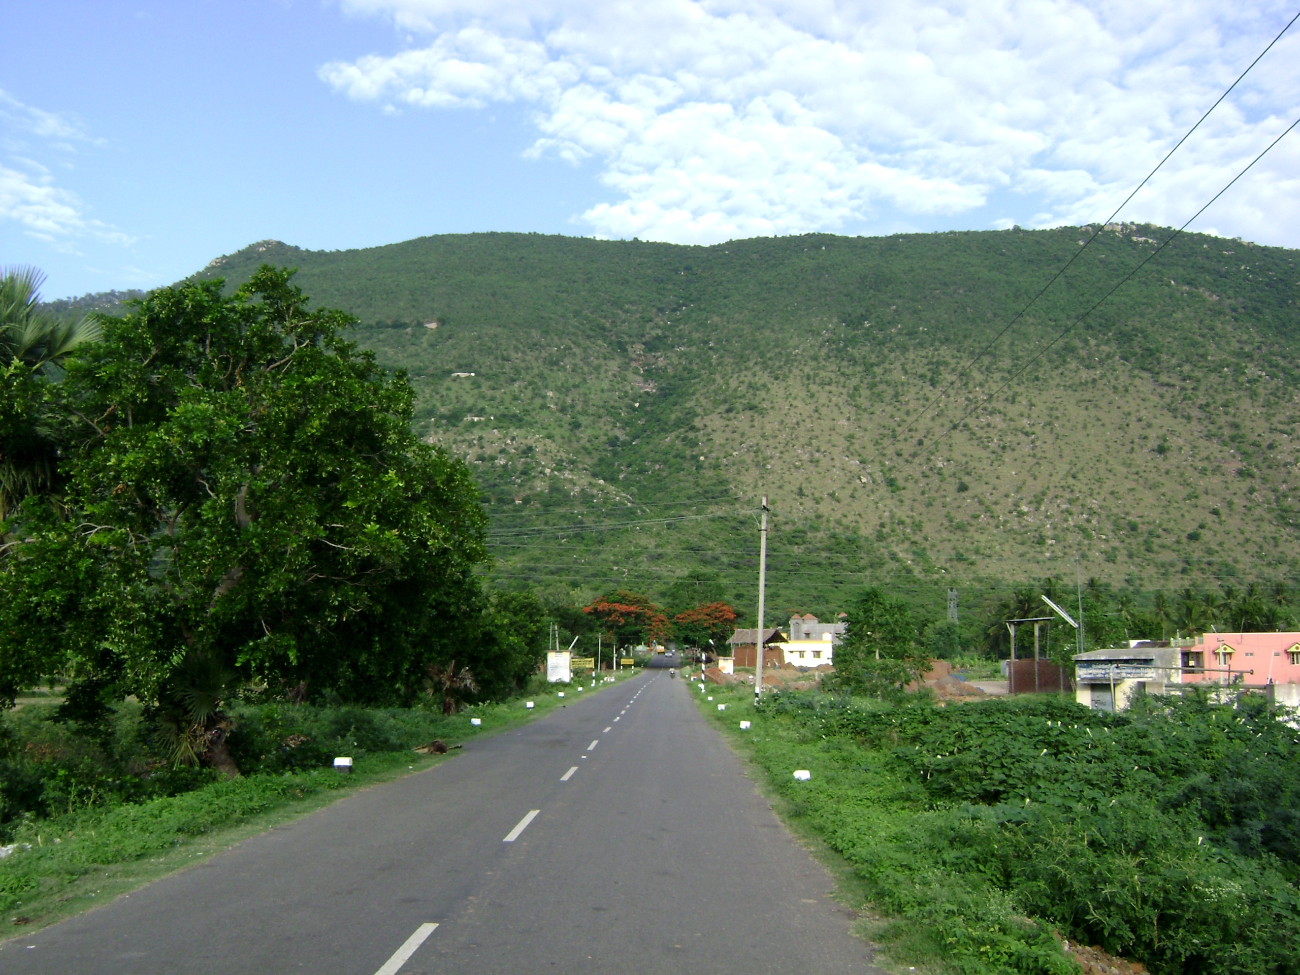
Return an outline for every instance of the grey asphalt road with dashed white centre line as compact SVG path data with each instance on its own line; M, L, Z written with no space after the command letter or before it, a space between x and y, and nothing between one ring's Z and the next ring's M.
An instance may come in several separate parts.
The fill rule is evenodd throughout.
M690 693L664 670L584 693L8 941L0 971L876 971Z

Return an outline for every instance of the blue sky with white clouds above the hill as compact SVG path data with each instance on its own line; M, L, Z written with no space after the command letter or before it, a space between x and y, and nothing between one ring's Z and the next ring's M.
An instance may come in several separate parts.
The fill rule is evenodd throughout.
M1295 13L1006 0L266 0L6 10L0 263L151 287L254 240L712 243L1096 221ZM1300 114L1300 25L1121 218ZM1300 134L1199 229L1300 246Z

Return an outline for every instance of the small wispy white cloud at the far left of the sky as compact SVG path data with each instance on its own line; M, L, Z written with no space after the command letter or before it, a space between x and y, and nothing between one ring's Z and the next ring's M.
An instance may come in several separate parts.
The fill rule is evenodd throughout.
M122 246L134 242L117 228L88 217L81 199L57 186L47 166L29 155L17 155L32 150L65 153L72 142L99 142L79 122L26 105L0 90L0 124L10 150L10 165L0 164L0 220L17 222L29 237L64 252L75 252L78 238ZM30 136L38 142L31 143Z

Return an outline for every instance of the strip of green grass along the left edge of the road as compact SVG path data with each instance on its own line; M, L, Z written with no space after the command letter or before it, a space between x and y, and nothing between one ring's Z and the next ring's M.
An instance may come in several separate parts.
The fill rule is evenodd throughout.
M637 672L623 672L615 682ZM417 754L411 750L415 745L434 737L448 746L490 737L536 720L580 694L610 686L614 684L597 682L592 688L588 680L580 692L575 681L567 688L545 686L508 701L468 707L451 716L430 720L422 715L417 725L421 741L406 742L402 750L361 750L354 755L351 775L330 767L254 772L177 796L23 822L10 831L13 853L0 859L0 941L129 894L343 796L422 772L456 754ZM534 702L533 708L526 707L528 701ZM472 725L472 718L482 724Z

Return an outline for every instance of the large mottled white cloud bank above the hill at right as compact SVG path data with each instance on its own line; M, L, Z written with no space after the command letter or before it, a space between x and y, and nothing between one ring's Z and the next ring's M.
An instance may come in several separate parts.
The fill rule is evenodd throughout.
M1268 0L343 4L422 40L322 66L337 91L390 108L529 105L528 155L598 160L612 199L582 222L681 242L1098 220L1291 16ZM1122 217L1180 224L1300 113L1295 30ZM1275 153L1206 220L1300 243L1300 136Z

